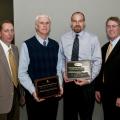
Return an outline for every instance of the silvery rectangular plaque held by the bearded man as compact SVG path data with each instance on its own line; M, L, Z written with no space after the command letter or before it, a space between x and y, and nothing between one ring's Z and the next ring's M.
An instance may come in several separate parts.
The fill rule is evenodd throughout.
M67 76L71 80L91 79L91 62L90 60L69 61L67 62Z

